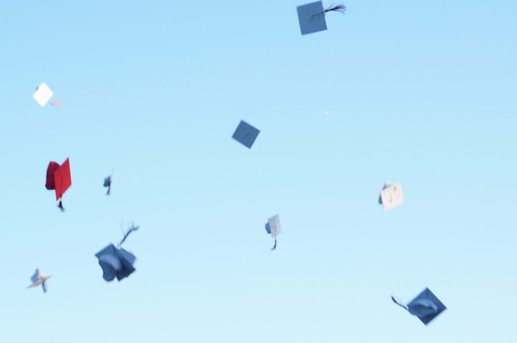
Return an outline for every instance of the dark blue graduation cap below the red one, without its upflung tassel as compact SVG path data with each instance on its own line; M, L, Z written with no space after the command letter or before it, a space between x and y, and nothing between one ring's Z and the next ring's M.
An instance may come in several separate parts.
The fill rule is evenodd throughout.
M133 264L136 257L124 248L116 248L110 244L95 256L99 259L102 277L106 281L111 281L115 277L120 281L135 271Z

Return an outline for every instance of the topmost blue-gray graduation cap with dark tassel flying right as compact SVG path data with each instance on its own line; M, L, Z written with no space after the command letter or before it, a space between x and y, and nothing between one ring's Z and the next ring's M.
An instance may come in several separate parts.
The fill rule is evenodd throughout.
M344 13L346 7L344 5L332 5L324 9L323 2L316 1L314 3L298 6L297 10L301 34L307 35L327 29L325 13L331 11Z

